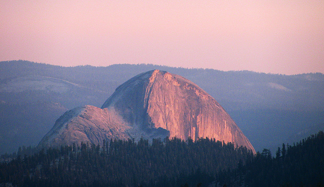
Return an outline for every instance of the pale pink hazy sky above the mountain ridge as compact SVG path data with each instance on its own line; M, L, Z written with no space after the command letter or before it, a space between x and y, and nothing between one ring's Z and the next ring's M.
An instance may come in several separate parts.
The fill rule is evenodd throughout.
M324 1L0 1L0 61L324 73Z

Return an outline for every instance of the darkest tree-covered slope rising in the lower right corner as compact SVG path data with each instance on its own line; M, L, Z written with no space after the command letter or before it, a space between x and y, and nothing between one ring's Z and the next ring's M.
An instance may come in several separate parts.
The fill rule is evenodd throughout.
M220 173L217 181L221 186L324 186L324 133L282 144L275 157L263 149L252 162Z

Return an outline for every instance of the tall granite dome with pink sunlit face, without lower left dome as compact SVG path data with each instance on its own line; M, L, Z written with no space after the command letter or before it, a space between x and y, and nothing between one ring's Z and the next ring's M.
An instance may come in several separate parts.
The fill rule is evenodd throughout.
M120 85L102 105L129 126L149 131L162 128L170 137L215 138L254 148L208 93L191 81L166 71L152 70Z

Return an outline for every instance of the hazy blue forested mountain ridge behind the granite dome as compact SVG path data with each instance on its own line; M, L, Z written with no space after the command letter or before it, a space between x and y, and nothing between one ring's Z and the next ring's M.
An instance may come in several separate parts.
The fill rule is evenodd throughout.
M0 62L0 154L36 145L65 111L100 107L114 90L141 72L166 70L214 97L256 151L275 149L324 129L324 75L286 76L252 71L186 69L151 64L61 67ZM287 139L291 137L291 139Z

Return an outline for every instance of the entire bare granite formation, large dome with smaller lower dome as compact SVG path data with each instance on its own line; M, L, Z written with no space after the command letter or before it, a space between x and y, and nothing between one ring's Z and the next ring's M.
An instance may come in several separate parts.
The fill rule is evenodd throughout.
M215 138L255 150L224 108L191 81L151 70L120 85L101 108L67 111L38 146L102 144L110 138Z

